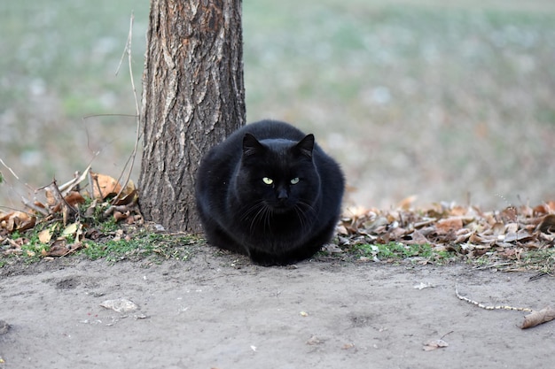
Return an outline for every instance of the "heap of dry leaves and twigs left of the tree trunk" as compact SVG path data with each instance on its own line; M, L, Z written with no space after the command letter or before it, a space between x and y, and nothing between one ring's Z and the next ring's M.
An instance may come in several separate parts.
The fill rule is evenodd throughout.
M143 226L137 201L132 181L121 186L109 175L92 172L90 166L62 185L53 180L38 188L33 199L23 198L25 211L0 211L0 255L51 258L72 254L87 247L84 241L106 234L99 227L102 222ZM35 239L28 234L33 230ZM43 245L38 255L26 248L33 242Z

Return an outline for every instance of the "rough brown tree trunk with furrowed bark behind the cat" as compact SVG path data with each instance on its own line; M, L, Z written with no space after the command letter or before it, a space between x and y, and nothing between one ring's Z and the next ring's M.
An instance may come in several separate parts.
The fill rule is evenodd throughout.
M200 159L245 122L241 0L151 0L139 203L146 220L200 232Z

